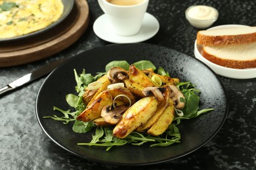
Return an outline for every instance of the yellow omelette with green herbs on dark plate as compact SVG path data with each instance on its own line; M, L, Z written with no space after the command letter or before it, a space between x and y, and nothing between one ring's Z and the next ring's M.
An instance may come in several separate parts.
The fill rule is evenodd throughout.
M62 16L62 0L0 0L0 39L43 29Z

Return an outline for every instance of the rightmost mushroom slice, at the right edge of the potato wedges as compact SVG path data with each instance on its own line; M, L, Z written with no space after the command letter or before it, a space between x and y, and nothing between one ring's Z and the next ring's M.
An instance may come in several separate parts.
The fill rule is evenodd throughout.
M175 108L182 109L185 105L185 103L181 101L181 98L185 99L183 93L175 85L169 85L169 88L171 89L170 98L175 103Z

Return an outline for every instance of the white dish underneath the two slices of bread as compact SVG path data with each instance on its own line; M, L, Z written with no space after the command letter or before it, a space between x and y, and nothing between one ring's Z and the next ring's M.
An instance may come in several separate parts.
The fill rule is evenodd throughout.
M246 25L219 25L217 27L211 27L210 29L219 28L230 28L230 27L247 27ZM253 69L232 69L228 67L223 67L212 63L208 59L204 58L200 53L202 51L202 46L198 45L195 41L194 44L194 55L197 59L208 65L215 73L221 76L226 76L228 78L246 79L246 78L256 78L256 68Z

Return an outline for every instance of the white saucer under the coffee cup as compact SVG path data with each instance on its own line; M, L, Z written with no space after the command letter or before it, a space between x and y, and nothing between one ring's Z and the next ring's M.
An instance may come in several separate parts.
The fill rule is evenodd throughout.
M113 43L121 44L146 41L156 35L160 27L158 20L152 14L146 13L139 33L132 36L120 36L110 31L106 17L106 14L103 14L96 19L93 24L93 31L95 31L95 34L100 39Z

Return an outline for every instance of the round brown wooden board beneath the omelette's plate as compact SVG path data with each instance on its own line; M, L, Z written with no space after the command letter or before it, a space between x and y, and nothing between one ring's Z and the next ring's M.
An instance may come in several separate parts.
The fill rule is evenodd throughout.
M49 31L27 39L0 43L0 67L30 63L53 56L83 35L89 25L89 6L75 0L69 16Z

